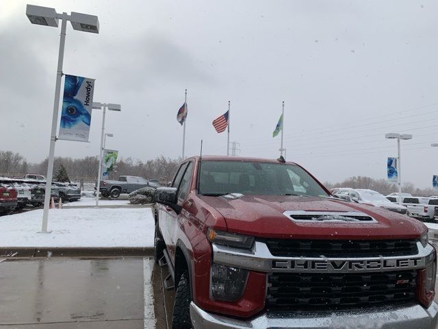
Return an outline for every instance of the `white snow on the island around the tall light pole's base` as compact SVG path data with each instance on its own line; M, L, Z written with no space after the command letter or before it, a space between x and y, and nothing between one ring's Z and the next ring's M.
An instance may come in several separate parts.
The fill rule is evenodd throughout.
M153 247L151 208L42 209L0 217L0 247Z

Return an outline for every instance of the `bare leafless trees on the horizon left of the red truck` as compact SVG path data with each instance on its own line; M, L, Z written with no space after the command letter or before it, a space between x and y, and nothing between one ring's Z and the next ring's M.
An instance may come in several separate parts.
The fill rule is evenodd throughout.
M165 156L146 161L131 157L120 158L116 162L114 172L110 174L110 179L117 179L119 175L133 175L168 182L172 180L180 162L181 158L172 159ZM21 154L12 151L0 151L0 175L20 177L27 173L46 175L47 164L47 158L41 162L29 163ZM57 173L61 165L65 168L70 180L94 182L98 175L99 158L97 156L86 156L84 158L55 157L53 173Z

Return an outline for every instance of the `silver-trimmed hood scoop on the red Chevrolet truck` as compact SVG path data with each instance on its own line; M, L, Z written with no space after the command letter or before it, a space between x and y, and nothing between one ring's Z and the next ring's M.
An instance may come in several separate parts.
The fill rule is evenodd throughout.
M283 215L296 222L331 222L331 223L376 223L376 219L357 211L306 211L287 210Z

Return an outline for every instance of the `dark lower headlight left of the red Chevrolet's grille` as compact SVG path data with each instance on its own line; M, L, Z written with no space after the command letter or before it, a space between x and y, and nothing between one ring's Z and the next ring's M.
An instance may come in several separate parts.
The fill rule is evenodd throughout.
M248 270L213 263L211 265L211 296L215 300L235 302L242 297Z

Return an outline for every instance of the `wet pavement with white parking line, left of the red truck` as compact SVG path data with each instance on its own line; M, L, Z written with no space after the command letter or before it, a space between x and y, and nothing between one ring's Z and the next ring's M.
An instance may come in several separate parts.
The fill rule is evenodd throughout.
M0 328L168 328L173 292L151 258L0 262Z

